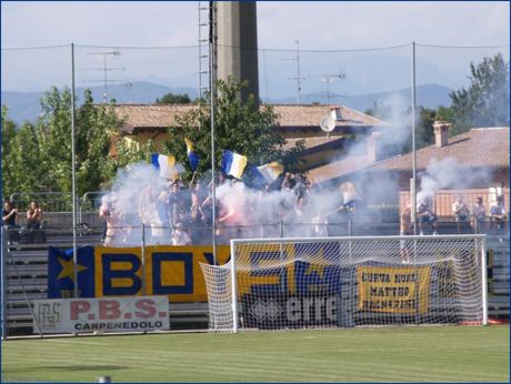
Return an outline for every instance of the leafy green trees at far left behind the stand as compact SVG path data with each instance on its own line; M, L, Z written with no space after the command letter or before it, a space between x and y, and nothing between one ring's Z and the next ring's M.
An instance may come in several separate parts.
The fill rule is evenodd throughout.
M117 170L148 160L152 143L129 144L119 135L121 121L111 104L94 104L89 90L76 110L78 194L98 191ZM71 92L52 88L41 98L42 115L19 130L2 108L2 181L8 196L16 192L71 192ZM112 143L117 155L112 155Z

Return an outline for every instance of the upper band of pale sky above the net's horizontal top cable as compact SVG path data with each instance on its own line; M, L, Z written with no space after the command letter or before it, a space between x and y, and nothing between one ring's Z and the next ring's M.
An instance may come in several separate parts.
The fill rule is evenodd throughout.
M2 1L2 46L197 43L197 1ZM261 48L509 43L508 1L259 1Z

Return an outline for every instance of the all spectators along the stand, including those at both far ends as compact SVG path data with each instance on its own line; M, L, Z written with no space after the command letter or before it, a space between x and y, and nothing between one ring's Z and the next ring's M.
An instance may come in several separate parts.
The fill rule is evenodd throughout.
M360 216L363 204L351 182L345 182L329 195L319 184L312 184L303 174L285 173L273 184L260 189L219 173L216 179L216 204L212 183L198 180L190 186L182 181L162 179L144 182L131 194L114 189L102 198L99 209L104 220L103 243L107 246L228 244L231 239L313 238L337 235L335 224ZM19 216L10 201L3 206L2 223L9 242L21 235L29 242L36 236L46 241L42 230L42 210L31 202L27 211L27 226L21 229ZM400 216L400 234L412 233L411 205ZM497 198L490 212L481 196L470 210L461 194L452 204L452 219L461 233L463 223L473 232L484 233L489 226L500 229L507 221L503 196ZM419 199L417 222L420 234L427 226L438 233L438 218L432 199Z

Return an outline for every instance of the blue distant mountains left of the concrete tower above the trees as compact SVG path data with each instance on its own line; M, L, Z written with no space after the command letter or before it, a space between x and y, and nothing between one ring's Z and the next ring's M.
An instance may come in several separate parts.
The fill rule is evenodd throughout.
M94 102L103 100L103 87L89 88ZM86 88L77 88L77 104L83 100ZM114 99L117 103L146 104L153 103L166 93L188 93L190 99L197 98L197 89L187 87L167 87L147 81L132 82L129 85L109 85L108 100ZM1 92L2 105L9 108L8 117L18 124L24 121L36 121L41 113L40 99L43 92Z

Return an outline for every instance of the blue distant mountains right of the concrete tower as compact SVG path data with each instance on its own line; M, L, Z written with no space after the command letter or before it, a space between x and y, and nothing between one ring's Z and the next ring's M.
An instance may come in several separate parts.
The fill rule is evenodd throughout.
M415 89L417 105L422 105L430 109L437 109L439 105L449 107L451 99L449 93L451 90L439 84L418 85ZM390 92L378 92L358 95L330 94L330 104L342 104L358 111L365 111L373 108L374 103L397 103L399 102L402 109L411 105L411 89L401 89ZM265 100L264 100L265 101ZM295 97L271 100L274 104L294 104ZM328 103L324 92L313 92L300 95L300 102L311 104L314 102Z

